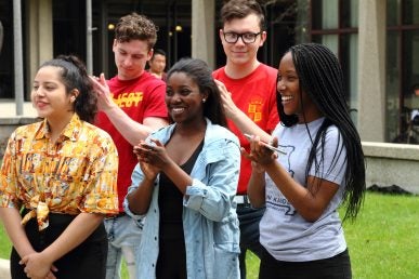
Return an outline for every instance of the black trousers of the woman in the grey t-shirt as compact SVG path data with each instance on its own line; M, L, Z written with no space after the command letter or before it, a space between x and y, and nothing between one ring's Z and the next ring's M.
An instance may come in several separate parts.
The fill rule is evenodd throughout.
M324 260L283 262L263 252L260 279L351 279L351 260L348 250Z

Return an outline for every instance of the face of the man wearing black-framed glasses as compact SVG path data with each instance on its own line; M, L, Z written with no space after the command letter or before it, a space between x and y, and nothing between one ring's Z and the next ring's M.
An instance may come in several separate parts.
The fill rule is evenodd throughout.
M245 43L241 38L235 43L228 43L224 39L224 34L235 32L245 34L261 32L260 19L256 14L249 14L244 18L234 18L224 23L223 29L220 29L220 39L223 44L224 53L227 56L227 63L245 65L253 63L257 59L258 50L263 45L266 39L266 32L261 32L257 36L252 43Z

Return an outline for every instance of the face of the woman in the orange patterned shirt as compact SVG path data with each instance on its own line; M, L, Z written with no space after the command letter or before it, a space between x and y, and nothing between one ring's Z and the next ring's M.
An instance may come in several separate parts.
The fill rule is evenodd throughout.
M71 94L66 92L61 71L58 67L45 66L38 70L34 79L30 98L41 118L65 120L74 114L77 91Z

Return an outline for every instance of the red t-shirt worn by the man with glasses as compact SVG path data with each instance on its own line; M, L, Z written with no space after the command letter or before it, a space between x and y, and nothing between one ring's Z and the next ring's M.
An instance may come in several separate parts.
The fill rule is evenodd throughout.
M279 122L276 108L276 76L277 69L260 64L249 76L232 79L225 75L225 67L212 72L214 79L222 81L232 93L234 104L241 109L262 130L271 134ZM249 150L249 141L240 130L228 119L230 130L238 136L240 145ZM250 160L241 157L238 195L247 194L247 184L251 174Z

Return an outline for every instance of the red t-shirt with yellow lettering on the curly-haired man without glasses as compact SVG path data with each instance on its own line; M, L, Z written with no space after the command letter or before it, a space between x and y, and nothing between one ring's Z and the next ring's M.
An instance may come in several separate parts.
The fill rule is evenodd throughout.
M146 117L168 119L165 103L166 83L144 71L133 80L119 80L114 77L108 80L114 102L133 120L143 123ZM100 111L95 124L109 133L118 149L118 199L119 211L123 211L122 202L127 189L131 186L131 174L139 162L133 154L132 145L114 127L105 112Z

